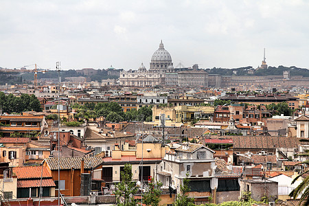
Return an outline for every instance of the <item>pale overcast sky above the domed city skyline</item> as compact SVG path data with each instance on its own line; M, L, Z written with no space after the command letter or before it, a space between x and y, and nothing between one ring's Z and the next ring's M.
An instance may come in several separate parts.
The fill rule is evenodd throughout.
M0 0L0 67L149 69L162 40L174 67L256 68L266 48L269 66L309 68L308 11L306 0Z

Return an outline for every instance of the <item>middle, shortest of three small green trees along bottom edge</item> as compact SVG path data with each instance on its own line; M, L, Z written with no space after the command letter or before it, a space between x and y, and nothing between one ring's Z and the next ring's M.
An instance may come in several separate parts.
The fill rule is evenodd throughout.
M148 192L143 194L143 203L147 206L159 206L159 202L161 201L160 195L162 186L161 182L156 182L152 178L150 183L148 183L149 190Z

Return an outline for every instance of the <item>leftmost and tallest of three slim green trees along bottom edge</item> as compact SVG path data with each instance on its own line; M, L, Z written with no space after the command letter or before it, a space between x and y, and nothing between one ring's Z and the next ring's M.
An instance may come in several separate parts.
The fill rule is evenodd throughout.
M137 200L134 195L137 193L138 187L136 182L132 180L132 165L126 163L124 171L120 174L122 181L116 185L114 192L116 196L116 205L119 206L136 206Z

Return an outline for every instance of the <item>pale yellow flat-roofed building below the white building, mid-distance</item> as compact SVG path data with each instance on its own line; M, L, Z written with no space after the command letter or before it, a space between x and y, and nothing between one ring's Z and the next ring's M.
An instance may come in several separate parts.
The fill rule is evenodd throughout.
M194 119L207 119L214 114L214 106L165 106L152 107L152 122L159 122L161 115L165 115L166 122L191 122Z

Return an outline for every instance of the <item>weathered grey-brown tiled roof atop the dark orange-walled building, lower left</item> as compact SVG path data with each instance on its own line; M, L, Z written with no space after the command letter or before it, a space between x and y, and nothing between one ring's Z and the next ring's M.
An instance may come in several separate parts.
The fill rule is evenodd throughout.
M104 162L102 157L62 157L59 159L60 170L80 169L82 158L84 158L84 169L86 170L96 168ZM51 170L58 170L58 158L47 158L44 161Z

